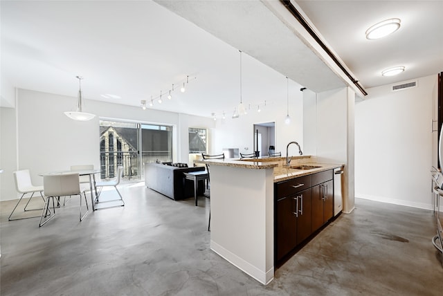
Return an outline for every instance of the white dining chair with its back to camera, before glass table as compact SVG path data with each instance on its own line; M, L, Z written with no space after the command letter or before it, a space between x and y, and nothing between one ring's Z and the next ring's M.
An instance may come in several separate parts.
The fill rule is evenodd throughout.
M78 173L71 174L54 174L47 175L43 177L43 187L44 187L44 196L46 196L46 204L42 210L42 215L40 216L39 227L46 224L49 220L53 219L55 216L55 201L54 198L58 199L60 196L80 196L80 221L84 219L84 217L89 212L88 201L86 198L86 194L80 190L80 176ZM82 214L82 195L84 196L84 201L86 203L87 211ZM53 200L53 212L51 213L49 210L49 203ZM48 217L49 216L49 217ZM43 222L42 222L43 221Z

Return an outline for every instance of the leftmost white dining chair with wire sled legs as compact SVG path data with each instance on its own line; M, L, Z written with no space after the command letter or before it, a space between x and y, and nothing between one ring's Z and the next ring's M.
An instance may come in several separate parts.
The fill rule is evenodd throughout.
M11 218L12 214L14 214L15 209L17 209L17 206L19 205L21 199L23 198L23 196L25 196L25 194L29 194L30 193L31 195L30 195L30 198L29 198L28 202L26 203L26 205L24 207L24 212L26 212L26 211L42 210L42 208L26 210L26 207L28 207L28 204L29 204L30 200L33 198L35 192L39 192L40 193L40 196L42 196L42 199L43 199L43 203L45 203L45 199L44 199L44 196L42 194L43 186L34 186L33 185L32 181L30 180L29 169L22 169L21 171L14 172L13 174L14 174L14 181L15 181L15 189L17 190L17 192L21 193L21 196L19 198L19 201L15 205L14 210L12 210L11 214L9 215L8 221L38 217L38 216L30 216L30 217L15 218L15 219Z

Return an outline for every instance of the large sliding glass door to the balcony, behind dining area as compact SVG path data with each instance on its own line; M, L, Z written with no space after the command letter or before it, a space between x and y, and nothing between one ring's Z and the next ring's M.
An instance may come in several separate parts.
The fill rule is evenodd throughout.
M156 160L172 161L172 127L100 120L101 178L114 178L123 166L124 179L138 180L143 163Z

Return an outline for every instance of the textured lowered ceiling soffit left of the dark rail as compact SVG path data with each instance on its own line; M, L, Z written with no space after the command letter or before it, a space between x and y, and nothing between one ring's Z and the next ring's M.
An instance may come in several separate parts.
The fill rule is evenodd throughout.
M311 91L328 91L346 85L299 39L293 28L261 1L156 0L156 3ZM281 3L277 4L284 8Z

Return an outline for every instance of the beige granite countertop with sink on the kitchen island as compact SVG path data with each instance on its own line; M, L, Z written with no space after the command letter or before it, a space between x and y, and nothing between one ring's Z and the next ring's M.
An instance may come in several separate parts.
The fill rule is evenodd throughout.
M194 160L195 163L208 163L209 165L221 165L225 167L242 167L244 169L271 169L273 168L274 183L307 176L318 172L324 172L329 169L342 167L343 164L336 163L318 163L315 157L311 156L292 156L291 166L285 166L284 157L271 158L244 158L242 160L235 158ZM314 169L294 169L300 165L312 165Z

